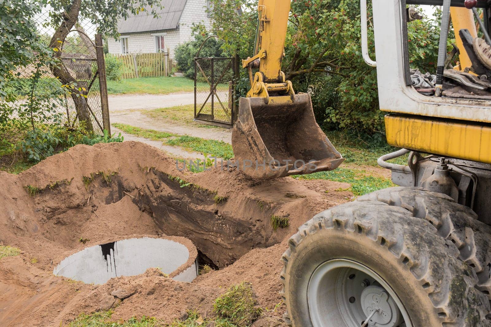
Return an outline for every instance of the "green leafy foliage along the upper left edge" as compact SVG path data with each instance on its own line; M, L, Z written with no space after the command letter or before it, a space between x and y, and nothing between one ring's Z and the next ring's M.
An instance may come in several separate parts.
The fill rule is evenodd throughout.
M14 117L28 117L34 128L36 108L55 106L34 92L43 68L58 64L52 49L39 38L34 17L40 11L35 1L0 0L0 125ZM29 68L27 73L21 73L23 67ZM53 94L56 97L59 92L53 90ZM23 97L27 101L16 101ZM39 115L46 115L46 110Z

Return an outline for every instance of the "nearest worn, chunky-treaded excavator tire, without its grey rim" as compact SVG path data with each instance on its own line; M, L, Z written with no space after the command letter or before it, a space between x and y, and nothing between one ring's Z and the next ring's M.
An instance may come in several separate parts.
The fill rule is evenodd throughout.
M345 258L390 285L413 327L491 326L486 319L489 301L474 287L476 273L460 255L429 221L399 206L356 201L331 208L302 225L283 255L285 322L313 326L307 299L310 277L321 264ZM322 326L342 327L325 322Z

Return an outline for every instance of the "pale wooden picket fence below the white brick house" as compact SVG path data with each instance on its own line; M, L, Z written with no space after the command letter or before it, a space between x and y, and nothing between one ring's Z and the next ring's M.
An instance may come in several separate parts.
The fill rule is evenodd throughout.
M123 62L123 79L168 76L172 67L169 52L155 54L106 54Z

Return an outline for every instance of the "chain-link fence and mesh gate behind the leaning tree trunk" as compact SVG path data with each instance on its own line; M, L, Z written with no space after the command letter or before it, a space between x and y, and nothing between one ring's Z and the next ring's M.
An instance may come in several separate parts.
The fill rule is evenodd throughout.
M36 27L39 40L49 45L54 34L50 27L51 18L48 8L36 15ZM90 121L88 129L102 134L103 108L98 79L97 52L94 44L96 27L87 22L79 22L64 40L58 40L56 52L60 52L58 65L76 80L70 87L79 89L86 99L86 109ZM101 51L102 53L102 51ZM104 62L104 61L103 61ZM81 111L74 103L70 87L63 85L57 78L52 66L44 62L16 67L16 78L7 84L6 92L13 94L4 99L2 106L8 108L5 136L24 134L27 128L41 127L50 123L61 123L74 127L80 120ZM104 93L104 92L103 92ZM103 94L107 99L107 93Z

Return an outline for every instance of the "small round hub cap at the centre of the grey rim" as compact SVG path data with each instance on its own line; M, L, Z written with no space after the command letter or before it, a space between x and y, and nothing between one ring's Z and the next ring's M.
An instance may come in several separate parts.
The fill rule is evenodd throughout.
M380 286L370 285L361 292L361 307L373 327L396 327L402 323L396 302Z

